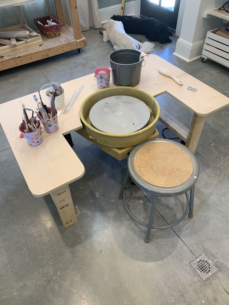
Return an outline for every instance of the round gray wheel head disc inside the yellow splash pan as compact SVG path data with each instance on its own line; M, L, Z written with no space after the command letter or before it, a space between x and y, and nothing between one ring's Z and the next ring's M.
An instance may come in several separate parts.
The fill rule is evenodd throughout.
M150 110L140 99L115 95L94 104L89 118L91 124L103 132L125 134L145 127L150 118Z

